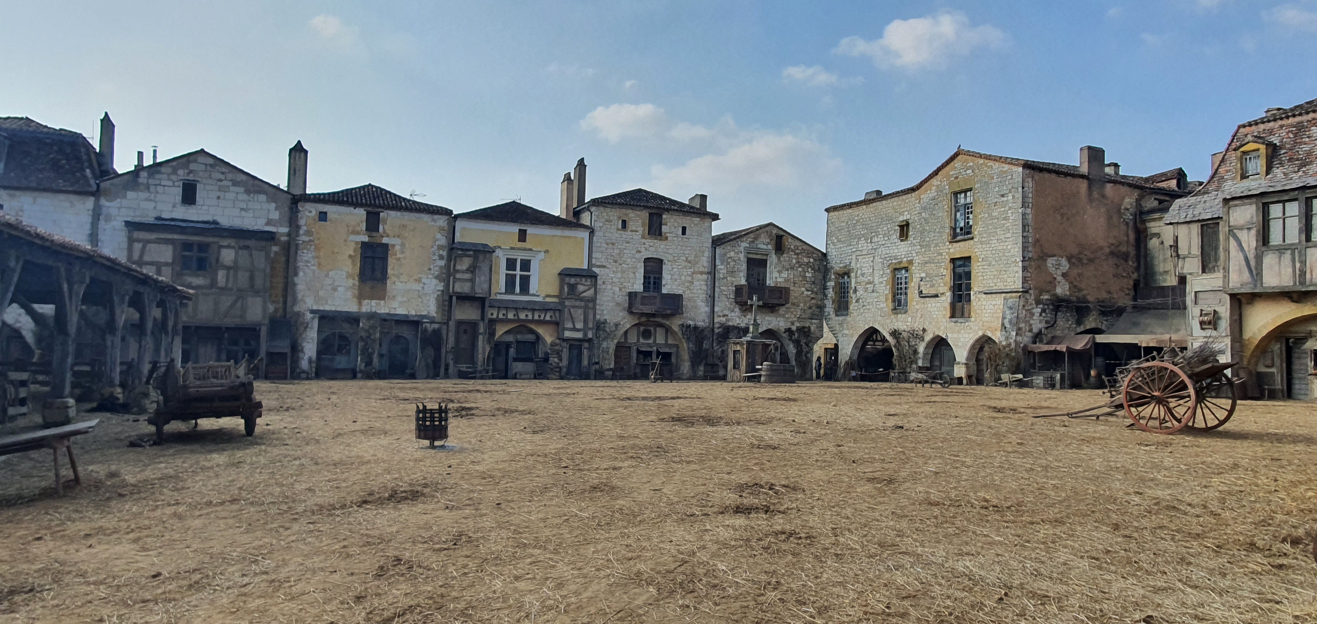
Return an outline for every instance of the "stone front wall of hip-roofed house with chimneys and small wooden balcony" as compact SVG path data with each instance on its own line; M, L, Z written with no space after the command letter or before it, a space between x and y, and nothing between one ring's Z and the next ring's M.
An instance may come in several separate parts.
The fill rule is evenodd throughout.
M664 236L645 236L649 211L611 205L591 205L594 226L594 254L591 269L599 273L599 299L597 301L598 359L603 367L612 366L614 345L620 332L643 320L668 325L682 336L681 362L677 375L691 374L703 365L709 345L709 269L712 241L712 217L693 212L669 211L664 213ZM627 229L620 221L627 220ZM686 236L681 228L686 226ZM664 292L682 295L682 312L674 316L632 315L627 312L627 292L640 291L644 259L662 258ZM689 344L690 338L697 342Z

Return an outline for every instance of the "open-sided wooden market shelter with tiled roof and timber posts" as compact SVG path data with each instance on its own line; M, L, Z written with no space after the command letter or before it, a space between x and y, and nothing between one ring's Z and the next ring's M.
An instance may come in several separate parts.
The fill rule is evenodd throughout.
M92 369L94 383L140 383L151 361L173 357L182 330L179 309L191 299L192 291L165 278L0 215L0 313L16 303L50 336L49 361L7 361L8 354L0 354L0 370L49 366L47 402L71 396L79 325L84 337L103 341L103 349L95 349L103 357ZM38 305L53 305L54 317L38 312ZM125 341L129 320L136 321L134 340ZM136 344L136 353L122 353L125 342ZM133 362L129 379L120 379L124 361Z

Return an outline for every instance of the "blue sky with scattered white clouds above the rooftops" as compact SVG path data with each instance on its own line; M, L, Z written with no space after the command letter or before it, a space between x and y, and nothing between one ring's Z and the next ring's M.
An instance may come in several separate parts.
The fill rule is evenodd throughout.
M462 212L709 195L715 230L919 180L957 145L1208 174L1235 124L1317 97L1317 0L68 3L4 0L0 115L205 147L312 191Z

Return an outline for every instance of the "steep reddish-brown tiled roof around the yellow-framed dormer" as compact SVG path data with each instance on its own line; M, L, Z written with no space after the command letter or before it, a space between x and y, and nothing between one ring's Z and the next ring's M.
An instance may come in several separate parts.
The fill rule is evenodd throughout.
M1280 124L1275 124L1283 121ZM1267 128L1256 128L1270 124ZM1317 100L1308 100L1271 115L1239 124L1226 141L1223 157L1212 175L1187 197L1175 200L1164 222L1221 219L1221 205L1230 197L1317 186ZM1267 143L1275 153L1267 162L1266 178L1237 179L1239 147Z

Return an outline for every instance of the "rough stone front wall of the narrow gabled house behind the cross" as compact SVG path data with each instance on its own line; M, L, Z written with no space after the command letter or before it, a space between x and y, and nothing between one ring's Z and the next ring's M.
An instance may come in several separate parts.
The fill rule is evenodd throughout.
M782 253L773 250L776 236L785 236ZM745 283L745 258L768 259L768 284L790 288L790 303L759 308L760 330L774 330L788 342L797 377L813 374L814 344L823 336L823 275L826 258L813 245L778 228L752 232L715 250L718 279L714 298L714 353L727 366L727 340L749 330L752 311L736 303L736 284ZM740 332L728 332L728 326ZM732 336L736 333L738 336Z

